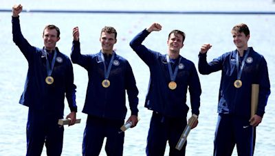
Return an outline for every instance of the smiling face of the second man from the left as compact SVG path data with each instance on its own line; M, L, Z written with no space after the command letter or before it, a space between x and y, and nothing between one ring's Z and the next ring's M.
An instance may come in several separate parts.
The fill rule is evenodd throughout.
M113 45L116 43L115 34L109 34L103 31L100 36L100 42L102 51L111 53L113 51Z

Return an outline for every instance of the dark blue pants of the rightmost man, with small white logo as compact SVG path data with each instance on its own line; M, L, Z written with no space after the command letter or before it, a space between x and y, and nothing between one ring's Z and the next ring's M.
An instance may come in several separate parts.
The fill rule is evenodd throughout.
M219 114L214 156L231 156L235 144L239 156L252 156L254 128L248 120L230 114Z

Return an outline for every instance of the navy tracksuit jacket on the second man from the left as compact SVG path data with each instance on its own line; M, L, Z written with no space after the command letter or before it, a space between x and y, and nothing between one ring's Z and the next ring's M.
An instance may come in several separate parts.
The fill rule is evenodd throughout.
M104 80L104 62L101 52L91 55L81 55L80 42L74 41L72 47L72 62L83 66L89 77L87 94L83 113L109 119L124 119L126 116L125 93L128 94L132 115L137 115L138 90L135 86L135 77L127 60L115 55L114 61L118 64L111 66L109 88L102 86ZM108 65L107 65L108 67ZM126 91L125 91L126 90Z

